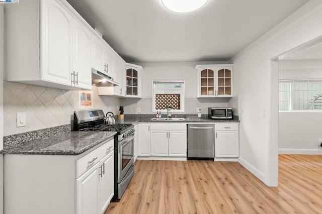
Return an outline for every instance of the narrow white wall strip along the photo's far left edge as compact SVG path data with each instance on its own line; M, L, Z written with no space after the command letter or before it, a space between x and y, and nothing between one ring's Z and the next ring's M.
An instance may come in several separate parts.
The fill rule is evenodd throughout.
M0 150L3 149L4 136L4 6L0 5ZM0 155L0 214L4 211L4 162Z

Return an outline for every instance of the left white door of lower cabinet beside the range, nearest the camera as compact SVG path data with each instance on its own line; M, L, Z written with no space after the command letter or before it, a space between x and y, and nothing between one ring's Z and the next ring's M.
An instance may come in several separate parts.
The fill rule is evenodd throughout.
M76 213L99 213L99 163L76 180Z

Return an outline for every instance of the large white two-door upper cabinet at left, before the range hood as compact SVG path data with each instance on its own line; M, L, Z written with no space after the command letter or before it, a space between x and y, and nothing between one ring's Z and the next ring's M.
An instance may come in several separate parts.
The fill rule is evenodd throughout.
M65 1L22 1L17 6L6 8L6 80L92 89L91 27L82 26L84 21Z

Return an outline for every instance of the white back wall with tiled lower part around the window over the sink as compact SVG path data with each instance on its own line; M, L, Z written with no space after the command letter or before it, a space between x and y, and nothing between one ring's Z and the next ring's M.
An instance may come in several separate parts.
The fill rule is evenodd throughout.
M208 107L227 107L231 98L197 98L197 64L227 64L227 62L158 62L133 63L143 66L142 98L123 99L125 114L153 114L152 81L153 80L185 80L185 113L196 114L201 108L202 114L208 114ZM233 102L233 104L235 104ZM237 111L236 111L237 113ZM182 113L178 113L182 114Z

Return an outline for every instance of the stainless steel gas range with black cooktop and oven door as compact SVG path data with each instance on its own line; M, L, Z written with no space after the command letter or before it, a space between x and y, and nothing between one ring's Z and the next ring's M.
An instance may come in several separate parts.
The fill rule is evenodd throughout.
M74 112L73 131L117 132L114 137L114 197L119 200L134 174L134 126L132 124L105 124L103 110Z

